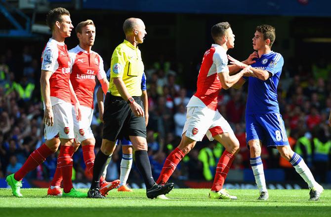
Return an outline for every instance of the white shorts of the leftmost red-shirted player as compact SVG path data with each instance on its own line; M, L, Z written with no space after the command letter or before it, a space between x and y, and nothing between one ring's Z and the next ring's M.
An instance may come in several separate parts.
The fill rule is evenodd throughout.
M51 140L57 134L60 139L74 139L74 121L70 112L71 103L61 102L52 106L54 115L53 126L45 126L45 139Z

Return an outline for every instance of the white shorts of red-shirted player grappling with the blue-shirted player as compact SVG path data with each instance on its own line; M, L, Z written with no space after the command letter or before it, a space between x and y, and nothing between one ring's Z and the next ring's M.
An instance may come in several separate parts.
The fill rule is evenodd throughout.
M205 135L209 141L222 133L233 132L229 123L218 112L207 107L188 107L183 133L194 141L202 141Z

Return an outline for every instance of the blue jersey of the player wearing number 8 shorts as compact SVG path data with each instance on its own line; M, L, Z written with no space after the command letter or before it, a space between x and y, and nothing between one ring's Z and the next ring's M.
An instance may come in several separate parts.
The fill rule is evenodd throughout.
M277 86L283 65L284 59L282 55L273 51L263 54L251 65L255 69L270 72L272 76L265 81L255 77L248 77L246 114L279 113Z

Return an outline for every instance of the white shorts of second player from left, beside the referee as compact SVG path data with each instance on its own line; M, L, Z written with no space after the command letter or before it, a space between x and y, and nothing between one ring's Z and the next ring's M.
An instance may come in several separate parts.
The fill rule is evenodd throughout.
M75 107L72 106L72 116L74 118L74 133L77 143L82 143L86 139L94 138L91 130L91 122L93 118L93 109L81 106L82 119L77 121Z

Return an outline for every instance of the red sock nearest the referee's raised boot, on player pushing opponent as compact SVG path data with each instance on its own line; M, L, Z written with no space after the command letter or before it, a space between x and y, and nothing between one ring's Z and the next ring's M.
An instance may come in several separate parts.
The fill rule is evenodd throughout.
M168 181L169 177L175 171L178 163L185 156L184 152L176 147L169 156L165 159L165 165L163 165L160 177L156 183L163 184Z

